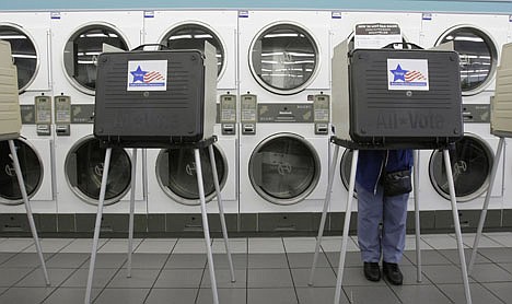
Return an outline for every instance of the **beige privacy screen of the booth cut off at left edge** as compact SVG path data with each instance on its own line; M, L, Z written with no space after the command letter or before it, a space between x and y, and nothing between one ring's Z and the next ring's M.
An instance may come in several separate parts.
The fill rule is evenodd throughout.
M12 62L11 45L0 40L0 140L19 138L20 130L16 67Z

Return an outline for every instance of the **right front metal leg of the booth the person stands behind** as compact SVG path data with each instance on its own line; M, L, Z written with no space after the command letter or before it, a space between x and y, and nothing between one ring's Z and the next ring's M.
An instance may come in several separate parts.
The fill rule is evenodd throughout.
M466 296L466 303L472 304L472 294L469 291L469 281L467 278L466 269L466 258L464 256L464 245L461 233L461 223L458 222L458 209L457 200L455 198L455 186L453 184L453 173L452 173L452 163L450 162L450 154L447 150L443 150L444 155L444 167L446 169L446 177L450 187L450 198L452 202L452 214L453 214L453 225L455 226L455 234L457 236L457 248L458 248L458 258L461 259L461 270L464 282L464 294Z

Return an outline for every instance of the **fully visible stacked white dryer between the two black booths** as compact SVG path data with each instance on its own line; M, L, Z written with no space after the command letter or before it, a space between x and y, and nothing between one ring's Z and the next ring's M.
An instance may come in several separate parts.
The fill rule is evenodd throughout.
M244 231L317 226L329 157L329 22L321 11L238 12Z

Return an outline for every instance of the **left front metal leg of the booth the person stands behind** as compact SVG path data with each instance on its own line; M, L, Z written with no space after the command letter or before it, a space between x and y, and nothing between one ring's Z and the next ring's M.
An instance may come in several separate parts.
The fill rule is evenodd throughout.
M339 304L341 296L341 283L344 280L345 256L347 255L348 232L350 226L350 215L352 214L353 188L356 186L356 169L358 167L359 150L353 150L352 165L350 167L349 192L347 196L347 210L345 211L344 238L341 242L341 253L339 255L338 277L336 279L335 304Z

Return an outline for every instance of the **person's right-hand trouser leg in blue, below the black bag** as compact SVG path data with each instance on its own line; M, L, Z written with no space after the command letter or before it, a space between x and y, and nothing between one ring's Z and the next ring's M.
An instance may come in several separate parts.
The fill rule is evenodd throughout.
M386 262L398 264L405 247L409 194L384 197L382 253Z

